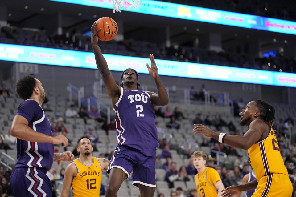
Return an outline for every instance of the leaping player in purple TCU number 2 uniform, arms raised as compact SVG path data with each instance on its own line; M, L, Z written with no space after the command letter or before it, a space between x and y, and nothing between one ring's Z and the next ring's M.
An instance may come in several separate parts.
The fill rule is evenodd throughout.
M112 99L117 129L118 145L114 149L108 173L106 197L114 197L122 182L133 171L133 184L139 187L142 197L152 197L155 191L155 158L158 147L153 105L165 106L169 102L167 91L157 74L154 56L150 54L151 67L146 64L154 78L158 94L138 90L138 73L126 69L118 86L111 75L107 62L98 46L97 22L91 27L92 48L97 67L103 77L109 97Z

